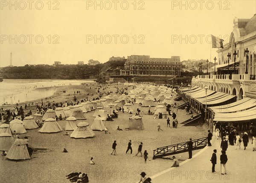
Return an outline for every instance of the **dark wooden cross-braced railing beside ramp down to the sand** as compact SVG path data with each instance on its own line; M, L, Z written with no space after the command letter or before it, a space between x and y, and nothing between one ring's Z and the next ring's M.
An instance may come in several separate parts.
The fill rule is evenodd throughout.
M192 142L193 142L192 150L203 149L205 146L207 146L207 137L199 138L199 139L193 140ZM162 158L164 156L175 155L175 154L188 152L188 151L189 151L188 142L159 147L154 150L153 160L155 158Z

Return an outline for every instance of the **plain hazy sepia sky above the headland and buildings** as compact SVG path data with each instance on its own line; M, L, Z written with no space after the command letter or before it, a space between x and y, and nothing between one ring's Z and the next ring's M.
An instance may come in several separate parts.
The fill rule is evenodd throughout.
M10 4L10 2L12 4ZM215 35L227 43L234 17L250 19L254 0L1 0L0 66L107 62L112 56L209 59Z

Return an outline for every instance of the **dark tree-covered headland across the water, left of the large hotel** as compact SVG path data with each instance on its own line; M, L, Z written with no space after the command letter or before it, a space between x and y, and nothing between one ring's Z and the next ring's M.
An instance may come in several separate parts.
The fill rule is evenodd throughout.
M108 79L119 75L124 62L109 61L98 65L25 65L0 68L3 79Z

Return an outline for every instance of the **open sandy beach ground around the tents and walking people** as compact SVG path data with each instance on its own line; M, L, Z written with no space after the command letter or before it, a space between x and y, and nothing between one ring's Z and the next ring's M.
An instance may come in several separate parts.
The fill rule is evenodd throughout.
M106 84L108 86L108 84ZM114 86L125 88L125 85L109 85L105 91L112 91L115 94ZM91 89L90 89L91 87ZM132 87L128 87L131 90ZM66 93L63 93L66 90ZM92 100L96 95L97 83L81 84L72 86L63 86L56 88L53 96L43 99L43 102L64 102L73 100L76 95L77 100ZM80 91L80 94L77 94ZM75 92L75 94L74 94ZM93 96L90 94L93 93ZM104 95L105 96L105 95ZM104 97L103 96L103 97ZM29 102L29 101L28 101ZM34 102L35 101L30 101ZM37 100L37 102L41 102ZM26 102L27 103L27 102ZM182 101L179 101L182 104ZM23 104L22 104L23 105ZM27 108L24 112L27 113ZM31 107L32 114L35 113L35 106ZM148 107L142 107L142 111L148 111ZM86 113L86 122L90 125L93 123L94 111ZM90 183L134 183L139 181L140 172L146 172L147 175L154 175L169 168L172 160L155 159L152 160L153 150L157 147L177 144L189 141L189 138L202 138L207 136L207 126L180 127L173 129L167 126L166 119L154 119L153 115L142 114L145 130L117 131L119 126L122 129L128 127L127 113L119 112L119 117L114 121L103 121L110 134L94 131L96 137L87 139L73 139L63 135L65 131L52 134L42 134L39 129L27 130L29 145L35 148L35 152L30 160L11 161L5 157L0 158L1 182L11 183L68 183L65 175L71 172L87 173ZM172 117L169 116L172 122ZM178 110L177 120L182 122L189 118L184 110ZM58 121L64 129L66 121ZM162 131L157 131L157 124L161 124ZM71 132L69 132L71 133ZM116 140L117 155L111 155L112 143ZM128 141L132 141L133 153L125 154ZM140 142L143 142L143 149L148 152L148 161L144 163L142 157L134 157L137 153ZM64 147L67 146L68 153L63 153ZM196 153L197 151L193 151ZM180 162L188 158L188 153L179 154ZM90 157L93 157L95 165L90 165ZM154 181L153 181L154 182Z

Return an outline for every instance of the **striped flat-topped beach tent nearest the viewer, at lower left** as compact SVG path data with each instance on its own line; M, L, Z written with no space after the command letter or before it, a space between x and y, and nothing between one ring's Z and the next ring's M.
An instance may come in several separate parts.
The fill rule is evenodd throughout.
M27 149L27 139L17 138L7 152L6 158L10 160L27 160L30 159Z

